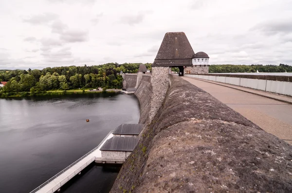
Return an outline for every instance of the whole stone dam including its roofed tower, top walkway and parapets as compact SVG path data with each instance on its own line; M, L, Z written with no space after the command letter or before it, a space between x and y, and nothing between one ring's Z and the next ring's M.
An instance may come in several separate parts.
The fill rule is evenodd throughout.
M111 193L292 192L292 105L281 91L290 77L210 80L208 64L197 63L207 59L194 53L184 33L167 33L151 74L143 65L137 74L123 74L123 88L138 98L141 116L138 132L109 134L137 138L131 153L113 153L123 166ZM181 77L170 74L171 67ZM268 92L273 84L285 88ZM119 145L104 150L112 147Z

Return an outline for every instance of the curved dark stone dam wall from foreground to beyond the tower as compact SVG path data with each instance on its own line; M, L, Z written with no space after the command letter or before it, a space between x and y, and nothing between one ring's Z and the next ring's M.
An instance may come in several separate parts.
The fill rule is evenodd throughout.
M153 100L149 81L143 77L135 93L140 123L147 123ZM292 146L200 88L169 75L162 105L111 189L146 192L290 193Z

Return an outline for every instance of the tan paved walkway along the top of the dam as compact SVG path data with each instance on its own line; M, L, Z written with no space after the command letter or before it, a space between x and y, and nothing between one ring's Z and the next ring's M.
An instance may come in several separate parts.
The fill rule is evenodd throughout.
M214 84L212 83L213 81L188 77L183 77L183 79L210 93L222 103L256 123L266 132L292 144L292 105L259 96L258 90L252 88L243 88L246 91L242 91L237 88L230 88L228 84L220 83L219 85L217 82L214 82ZM231 86L233 87L233 85ZM260 92L261 95L280 97L288 102L292 101L292 97L264 91Z

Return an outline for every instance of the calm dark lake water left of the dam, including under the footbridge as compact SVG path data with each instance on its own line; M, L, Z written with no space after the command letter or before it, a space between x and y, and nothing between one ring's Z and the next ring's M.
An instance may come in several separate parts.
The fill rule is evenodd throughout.
M134 95L0 99L0 193L29 193L139 117ZM109 192L119 169L92 164L62 192Z

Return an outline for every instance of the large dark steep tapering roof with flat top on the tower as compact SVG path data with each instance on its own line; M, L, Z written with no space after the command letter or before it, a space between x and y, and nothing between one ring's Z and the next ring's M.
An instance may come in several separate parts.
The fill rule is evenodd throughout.
M183 32L168 32L152 66L192 66L193 55L192 46Z

